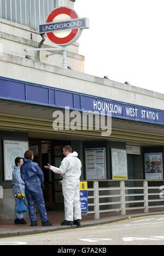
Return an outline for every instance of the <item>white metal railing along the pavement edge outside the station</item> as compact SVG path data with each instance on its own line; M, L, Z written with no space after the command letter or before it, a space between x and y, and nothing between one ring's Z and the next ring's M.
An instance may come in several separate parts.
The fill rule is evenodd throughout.
M101 180L88 182L89 212L95 219L101 213L126 215L164 207L164 180ZM163 209L164 210L164 209Z

